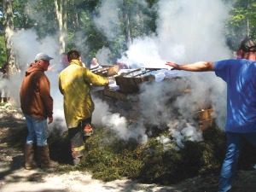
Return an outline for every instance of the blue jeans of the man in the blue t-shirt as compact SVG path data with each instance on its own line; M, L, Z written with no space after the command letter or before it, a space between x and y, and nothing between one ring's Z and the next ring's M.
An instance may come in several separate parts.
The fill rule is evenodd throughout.
M243 147L244 139L256 147L256 132L236 133L226 132L227 151L220 172L218 192L226 192L231 189L236 175L236 164Z

